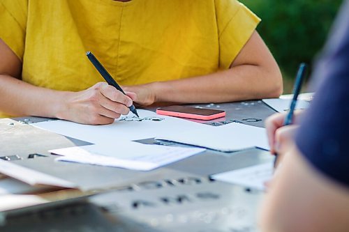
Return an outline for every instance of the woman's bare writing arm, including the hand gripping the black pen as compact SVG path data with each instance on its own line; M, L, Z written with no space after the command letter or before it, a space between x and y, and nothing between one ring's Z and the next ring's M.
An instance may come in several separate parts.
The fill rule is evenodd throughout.
M132 104L131 98L106 83L80 92L54 91L23 82L21 71L20 59L0 39L0 111L6 114L107 124L128 114L126 106Z

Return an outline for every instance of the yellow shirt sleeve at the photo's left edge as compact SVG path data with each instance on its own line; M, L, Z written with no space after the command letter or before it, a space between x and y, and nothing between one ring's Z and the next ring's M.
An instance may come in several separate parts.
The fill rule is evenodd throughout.
M0 1L0 38L23 60L28 0Z

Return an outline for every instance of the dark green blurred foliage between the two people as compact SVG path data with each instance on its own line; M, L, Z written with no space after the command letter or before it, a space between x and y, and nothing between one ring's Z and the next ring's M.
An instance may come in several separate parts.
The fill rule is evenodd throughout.
M320 52L341 0L240 0L262 22L258 32L278 61L284 93L292 92L299 63L311 65Z

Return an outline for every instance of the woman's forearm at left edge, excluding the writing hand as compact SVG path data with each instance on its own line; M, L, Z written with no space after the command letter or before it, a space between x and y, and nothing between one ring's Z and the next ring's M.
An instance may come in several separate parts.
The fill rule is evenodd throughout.
M6 114L57 117L65 94L0 75L0 111Z

